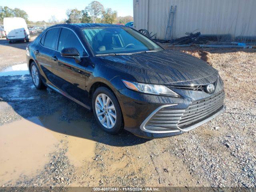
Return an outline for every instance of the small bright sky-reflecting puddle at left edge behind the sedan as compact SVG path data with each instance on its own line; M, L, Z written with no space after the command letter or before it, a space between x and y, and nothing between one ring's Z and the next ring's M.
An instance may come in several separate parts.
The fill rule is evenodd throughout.
M10 66L0 71L0 76L15 76L15 75L27 75L28 66L26 63Z

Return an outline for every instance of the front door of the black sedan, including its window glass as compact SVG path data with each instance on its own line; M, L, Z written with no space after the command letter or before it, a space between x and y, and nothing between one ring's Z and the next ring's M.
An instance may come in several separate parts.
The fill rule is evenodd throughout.
M76 63L74 58L62 57L60 52L64 48L76 48L80 54L81 62ZM84 104L86 103L85 77L86 63L88 62L87 56L76 34L68 28L62 28L58 41L58 50L53 54L55 61L52 65L52 72L56 78L54 84L60 90L63 90L72 98Z

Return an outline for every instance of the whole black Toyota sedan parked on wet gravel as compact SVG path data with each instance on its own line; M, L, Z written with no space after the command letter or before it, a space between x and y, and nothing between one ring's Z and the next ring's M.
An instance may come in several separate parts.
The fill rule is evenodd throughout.
M182 134L225 109L218 71L126 26L58 24L27 47L34 86L94 112L106 132Z

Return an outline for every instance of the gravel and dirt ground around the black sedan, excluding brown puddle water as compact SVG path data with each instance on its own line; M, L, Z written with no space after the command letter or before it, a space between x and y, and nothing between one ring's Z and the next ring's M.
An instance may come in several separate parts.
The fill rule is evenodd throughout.
M16 49L2 50L0 69L12 66ZM202 58L219 70L224 80L226 111L188 133L146 140L128 132L112 136L102 132L92 116L78 104L51 91L32 88L30 76L0 77L0 124L20 118L47 116L60 111L64 122L86 119L94 156L74 166L63 137L56 152L38 175L23 175L3 186L221 186L256 187L256 51L243 49L175 48ZM18 95L17 95L18 94ZM21 99L22 98L22 99ZM32 104L33 103L33 104ZM36 104L36 107L34 107ZM39 149L40 150L40 149ZM1 177L1 176L0 176Z

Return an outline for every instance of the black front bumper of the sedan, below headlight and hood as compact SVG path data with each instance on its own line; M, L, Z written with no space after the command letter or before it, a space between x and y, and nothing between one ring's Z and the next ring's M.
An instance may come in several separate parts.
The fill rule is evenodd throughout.
M210 121L225 110L223 86L217 86L214 94L191 90L175 91L181 95L180 98L141 94L128 89L119 90L118 100L121 101L120 106L124 117L124 128L144 138L174 136L188 132ZM219 98L220 95L222 95L221 100ZM203 103L201 102L202 100L206 100L206 102ZM190 108L190 106L195 106L194 103L197 103L197 101L199 101L198 109L195 107ZM204 107L204 105L206 106ZM158 112L160 110L166 110L166 108L176 113L179 112L180 116L175 116L175 118L156 118ZM202 108L206 108L206 110L201 112L201 117L198 120L185 124L186 120L184 118L189 120L188 122L191 122L191 116L194 116L190 114L190 111L193 114L196 113L194 112L196 110L200 109L202 111ZM183 114L186 114L186 116L184 117ZM154 125L152 128L152 126L148 125L148 122L159 123L152 121L152 119L163 119L161 125L164 125ZM179 124L179 122L183 123Z

